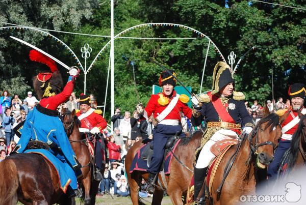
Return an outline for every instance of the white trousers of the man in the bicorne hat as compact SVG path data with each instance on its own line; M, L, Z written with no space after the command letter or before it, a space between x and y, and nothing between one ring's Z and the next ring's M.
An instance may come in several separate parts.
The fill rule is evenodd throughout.
M205 168L209 165L211 160L215 157L215 155L210 151L210 148L214 143L223 139L238 139L238 134L233 130L226 129L215 132L210 140L208 140L203 146L195 165L196 168Z

